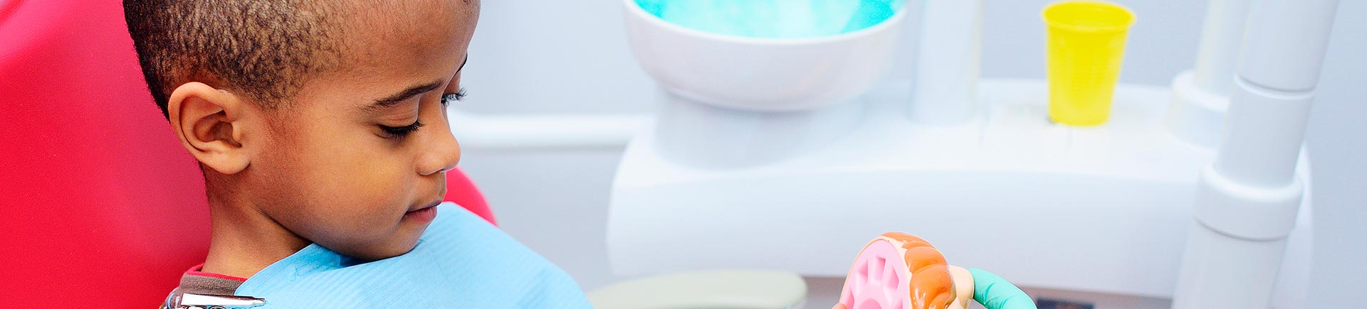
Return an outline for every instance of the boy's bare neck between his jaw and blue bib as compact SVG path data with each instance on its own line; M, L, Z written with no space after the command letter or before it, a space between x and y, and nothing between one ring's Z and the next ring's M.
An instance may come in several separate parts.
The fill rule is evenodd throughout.
M209 197L212 234L204 272L250 278L262 268L308 246L250 204Z

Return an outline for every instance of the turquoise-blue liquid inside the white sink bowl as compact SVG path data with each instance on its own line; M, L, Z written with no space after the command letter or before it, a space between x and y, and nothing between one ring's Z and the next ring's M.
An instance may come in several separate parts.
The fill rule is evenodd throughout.
M816 38L858 31L897 14L902 0L636 0L666 22L752 38Z

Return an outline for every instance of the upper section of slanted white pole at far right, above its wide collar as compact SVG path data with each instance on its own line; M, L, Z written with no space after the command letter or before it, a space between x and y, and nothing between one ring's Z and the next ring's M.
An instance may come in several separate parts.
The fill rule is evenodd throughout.
M1290 182L1337 0L1263 0L1251 19L1215 170L1271 188Z

